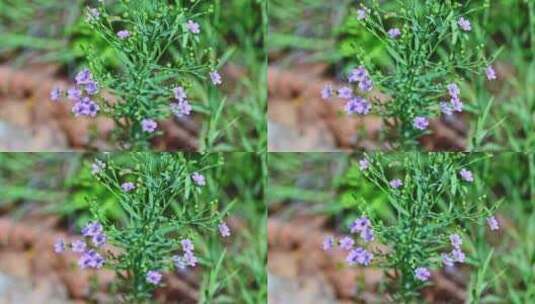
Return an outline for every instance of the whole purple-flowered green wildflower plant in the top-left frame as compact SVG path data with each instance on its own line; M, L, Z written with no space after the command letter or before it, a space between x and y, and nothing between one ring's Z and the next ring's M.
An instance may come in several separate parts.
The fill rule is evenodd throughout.
M111 118L112 139L123 149L148 148L149 140L162 134L158 121L168 117L216 115L222 101L214 87L223 80L215 51L201 43L200 22L211 12L200 2L99 1L87 8L87 24L113 49L119 69L110 70L86 46L88 66L78 72L74 86L66 92L54 88L50 99L66 97L77 117ZM208 105L199 102L203 98L210 99Z

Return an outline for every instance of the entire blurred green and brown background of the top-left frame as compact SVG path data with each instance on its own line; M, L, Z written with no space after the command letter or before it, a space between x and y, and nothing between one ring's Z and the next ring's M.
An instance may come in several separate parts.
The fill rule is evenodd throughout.
M75 119L68 105L48 97L54 85L66 84L85 66L83 46L94 47L110 69L120 69L112 49L84 23L85 8L95 3L0 0L0 150L110 149L109 121ZM217 117L197 114L162 122L165 135L156 138L153 147L197 150L210 121L210 129L216 130L209 134L210 150L265 150L266 1L199 3L214 12L201 24L201 47L214 48L222 60L225 106Z

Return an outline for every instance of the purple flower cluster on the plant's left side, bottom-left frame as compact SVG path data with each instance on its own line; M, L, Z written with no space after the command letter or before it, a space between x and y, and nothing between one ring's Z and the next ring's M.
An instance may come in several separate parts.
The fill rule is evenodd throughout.
M78 266L81 269L100 269L104 265L104 257L97 251L98 248L104 246L107 237L104 234L102 225L98 222L90 222L82 229L82 235L91 239L91 242L85 240L76 240L71 243L72 252L79 255ZM59 239L54 244L54 252L62 253L66 250L65 241Z

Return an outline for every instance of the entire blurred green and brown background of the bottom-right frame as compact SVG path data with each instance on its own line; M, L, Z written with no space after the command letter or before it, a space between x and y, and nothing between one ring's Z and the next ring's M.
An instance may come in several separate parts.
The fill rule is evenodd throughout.
M476 176L467 201L503 200L501 229L467 230L468 263L434 271L422 291L428 303L531 303L535 299L535 155L471 153ZM270 153L268 204L269 303L385 303L379 268L349 267L345 255L321 249L325 236L340 237L367 206L388 222L384 192L358 168L362 155ZM485 263L490 256L490 263Z

